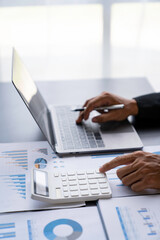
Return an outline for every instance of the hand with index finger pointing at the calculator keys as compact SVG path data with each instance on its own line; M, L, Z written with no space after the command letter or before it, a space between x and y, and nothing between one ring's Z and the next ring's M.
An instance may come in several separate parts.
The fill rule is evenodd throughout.
M133 191L160 189L160 155L136 151L114 158L99 170L104 173L120 165L126 166L117 170L117 176Z

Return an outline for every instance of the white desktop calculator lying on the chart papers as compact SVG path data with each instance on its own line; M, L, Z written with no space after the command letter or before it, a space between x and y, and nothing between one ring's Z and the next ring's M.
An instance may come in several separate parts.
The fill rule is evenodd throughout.
M111 198L106 174L98 170L44 171L33 169L32 195L48 203L72 203Z

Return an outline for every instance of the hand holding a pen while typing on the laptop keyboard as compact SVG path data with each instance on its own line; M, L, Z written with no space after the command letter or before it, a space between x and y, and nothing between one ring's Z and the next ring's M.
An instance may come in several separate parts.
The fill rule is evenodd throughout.
M117 95L103 92L99 96L91 98L85 102L84 111L79 114L76 123L79 124L82 120L87 120L91 111L96 107L110 106L115 104L124 104L124 108L110 110L109 112L99 111L101 114L92 118L93 122L103 123L108 121L122 121L130 115L138 114L137 102L134 99L125 99Z

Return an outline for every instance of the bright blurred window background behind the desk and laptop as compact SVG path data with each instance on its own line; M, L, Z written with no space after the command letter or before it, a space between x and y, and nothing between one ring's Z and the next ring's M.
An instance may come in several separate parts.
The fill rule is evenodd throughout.
M13 46L36 81L147 77L160 91L160 1L0 0L1 82Z

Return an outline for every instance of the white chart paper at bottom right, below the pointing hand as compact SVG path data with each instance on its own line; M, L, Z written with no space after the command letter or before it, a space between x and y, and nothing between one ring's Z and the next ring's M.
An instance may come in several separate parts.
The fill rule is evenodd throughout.
M160 195L100 200L98 205L109 239L160 239L159 203Z

